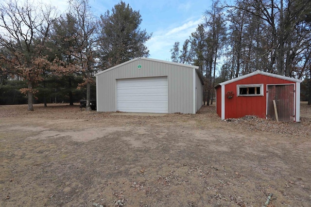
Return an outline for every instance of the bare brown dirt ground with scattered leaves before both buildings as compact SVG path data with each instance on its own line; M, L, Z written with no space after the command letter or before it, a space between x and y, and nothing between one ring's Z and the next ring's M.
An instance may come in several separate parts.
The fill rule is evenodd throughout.
M0 106L1 207L311 206L311 107L300 123Z

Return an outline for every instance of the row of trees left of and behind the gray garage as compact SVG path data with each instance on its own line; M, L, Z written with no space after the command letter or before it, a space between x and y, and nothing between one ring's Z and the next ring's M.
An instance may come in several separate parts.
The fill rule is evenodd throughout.
M51 97L61 96L73 105L85 93L90 110L96 72L148 57L145 43L152 34L140 29L141 21L139 12L123 1L100 17L88 0L69 0L68 11L60 16L48 4L2 1L0 104L23 102L22 93L32 111L35 99L46 106L54 101Z

